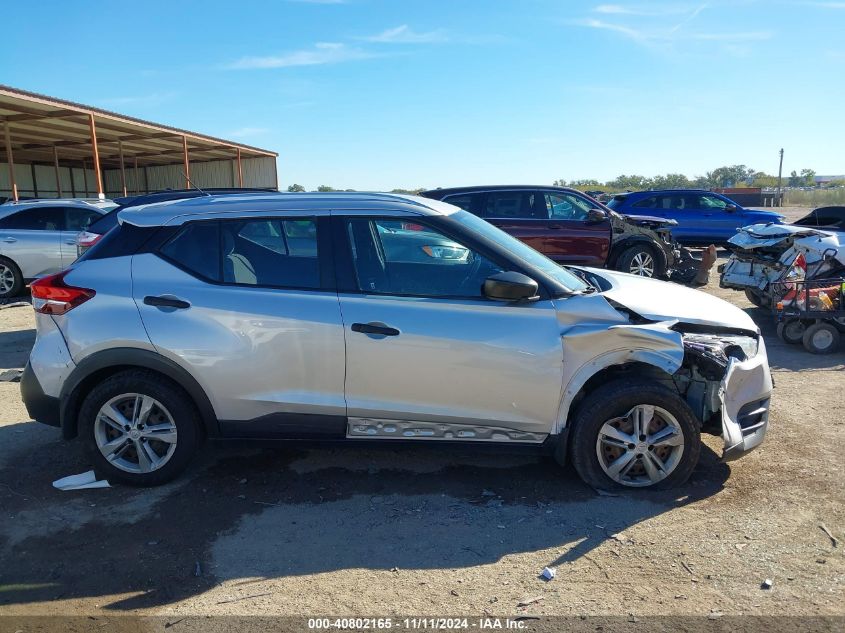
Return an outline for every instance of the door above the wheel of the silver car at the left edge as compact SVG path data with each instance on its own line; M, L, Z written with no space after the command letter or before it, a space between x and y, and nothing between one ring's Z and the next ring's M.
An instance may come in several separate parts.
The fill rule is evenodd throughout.
M14 261L24 279L62 268L62 207L30 207L0 220L0 254Z

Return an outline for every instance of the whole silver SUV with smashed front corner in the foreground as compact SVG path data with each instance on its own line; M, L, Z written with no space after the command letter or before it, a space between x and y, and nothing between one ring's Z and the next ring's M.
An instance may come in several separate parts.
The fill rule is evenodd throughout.
M32 285L29 414L154 485L205 438L533 448L590 485L683 482L766 433L753 321L701 293L563 268L451 205L391 194L178 200L119 214Z

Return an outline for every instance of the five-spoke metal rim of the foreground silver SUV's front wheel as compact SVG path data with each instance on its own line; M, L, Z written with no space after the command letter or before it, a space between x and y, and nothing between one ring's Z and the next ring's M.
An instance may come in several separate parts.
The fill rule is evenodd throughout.
M605 474L623 486L651 486L677 468L684 453L678 420L660 407L640 404L605 422L596 454Z

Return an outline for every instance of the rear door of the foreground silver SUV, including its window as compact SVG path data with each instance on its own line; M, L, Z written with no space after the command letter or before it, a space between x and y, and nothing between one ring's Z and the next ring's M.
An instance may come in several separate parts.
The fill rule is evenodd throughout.
M345 350L328 216L186 224L133 259L150 341L229 437L343 437Z

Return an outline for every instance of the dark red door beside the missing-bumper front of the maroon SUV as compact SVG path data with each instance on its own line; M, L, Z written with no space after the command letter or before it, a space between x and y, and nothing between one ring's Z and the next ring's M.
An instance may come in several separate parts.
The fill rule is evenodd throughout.
M610 253L610 218L591 221L588 198L564 191L540 191L548 214L543 254L561 264L603 266Z

